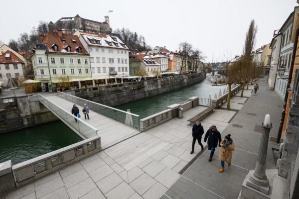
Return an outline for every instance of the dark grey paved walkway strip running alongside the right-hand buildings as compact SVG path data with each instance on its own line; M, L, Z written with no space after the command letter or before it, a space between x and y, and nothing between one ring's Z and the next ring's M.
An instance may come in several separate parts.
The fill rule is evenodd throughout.
M244 105L242 103L245 101L242 98L232 99L235 102L231 107L239 111L222 132L222 137L230 133L235 143L232 166L226 166L224 173L219 173L219 147L216 148L212 162L208 162L210 151L206 150L160 199L238 198L246 175L249 170L255 168L262 132L261 124L267 113L273 122L270 136L276 137L279 129L283 102L274 91L267 90L266 82L260 82L259 85L260 90L257 94L251 94ZM278 148L276 142L269 142L267 169L275 169L272 147Z

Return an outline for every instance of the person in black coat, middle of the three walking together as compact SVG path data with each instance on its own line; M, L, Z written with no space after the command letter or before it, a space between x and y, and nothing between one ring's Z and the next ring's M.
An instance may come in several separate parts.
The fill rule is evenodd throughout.
M217 147L218 142L220 147L220 142L221 142L221 134L217 130L216 126L214 125L211 126L209 130L206 132L204 136L204 142L206 141L208 141L208 150L211 150L210 158L209 158L209 162L211 162L215 152L215 148Z

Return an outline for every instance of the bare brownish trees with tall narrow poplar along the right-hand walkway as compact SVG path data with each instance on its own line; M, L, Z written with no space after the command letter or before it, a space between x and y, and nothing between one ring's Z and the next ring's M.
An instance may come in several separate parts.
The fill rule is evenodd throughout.
M209 81L212 85L228 85L227 109L230 109L231 89L233 84L237 84L242 88L241 97L243 97L245 85L255 82L261 77L262 68L251 60L251 53L256 42L257 26L252 20L246 33L243 55L233 63L225 66L226 72L223 75L214 74Z

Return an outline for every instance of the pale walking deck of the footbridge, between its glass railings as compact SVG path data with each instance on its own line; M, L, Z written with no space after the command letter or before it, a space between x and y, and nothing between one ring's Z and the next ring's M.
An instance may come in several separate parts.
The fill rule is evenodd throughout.
M64 100L57 96L44 96L44 97L46 97L47 100L50 100L53 103L64 108L66 111L71 112L73 102ZM115 121L111 118L108 118L92 110L90 110L89 112L90 119L85 119L82 112L82 108L83 108L82 105L83 104L77 104L80 110L80 114L82 115L81 119L83 119L85 122L87 122L88 124L94 126L99 130L98 134L101 136L103 149L112 146L113 144L116 144L122 140L125 140L133 135L136 135L140 132L139 130L133 127L127 126L121 122ZM75 122L75 120L72 120L72 122Z

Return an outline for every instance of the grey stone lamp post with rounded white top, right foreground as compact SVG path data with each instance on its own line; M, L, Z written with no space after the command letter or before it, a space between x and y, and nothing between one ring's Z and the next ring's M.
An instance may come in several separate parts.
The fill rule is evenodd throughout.
M267 151L268 151L268 141L269 134L272 128L272 123L270 123L270 115L265 116L265 120L262 123L264 129L261 138L261 144L259 149L258 161L254 172L249 174L249 181L246 185L257 189L265 194L269 193L269 179L266 175L266 161L267 161Z

